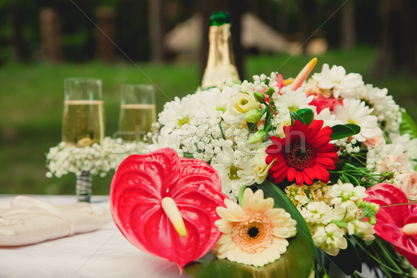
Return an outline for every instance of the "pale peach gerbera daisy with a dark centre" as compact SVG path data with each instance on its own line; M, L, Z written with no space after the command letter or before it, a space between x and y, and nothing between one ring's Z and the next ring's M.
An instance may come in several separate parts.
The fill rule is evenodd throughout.
M288 240L297 233L297 222L284 208L274 208L274 199L263 199L263 191L243 193L242 207L224 199L227 208L218 206L215 225L222 232L213 254L246 265L272 263L286 252Z

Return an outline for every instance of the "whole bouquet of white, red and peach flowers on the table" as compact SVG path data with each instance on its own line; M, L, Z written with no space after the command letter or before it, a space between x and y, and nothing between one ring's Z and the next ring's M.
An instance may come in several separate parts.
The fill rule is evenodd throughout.
M221 88L165 104L158 117L160 134L149 145L154 156L137 159L162 163L167 158L158 149L169 147L180 156L170 154L176 161L170 167L180 169L172 184L193 183L192 174L204 184L206 179L218 184L220 177L221 186L204 189L211 201L195 201L195 209L208 210L204 217L217 227L195 228L218 233L207 241L217 259L208 255L186 265L211 249L206 245L183 261L180 251L177 259L154 254L180 261L195 277L329 277L329 265L361 277L363 263L378 277L416 277L416 124L386 89L365 84L360 74L325 64L309 78L316 62L311 60L295 79L276 72L241 84L225 79ZM190 158L205 161L218 176L195 170ZM120 169L129 166L151 179L145 166L133 167L133 158L129 163ZM160 170L152 165L149 171L158 176ZM121 175L116 172L113 194ZM126 186L139 182L123 179ZM158 211L165 211L184 237L181 215L197 220L184 205L191 203L176 201L186 193L161 188L161 196L171 197L152 206L161 204ZM121 216L113 211L113 218ZM122 230L125 236L129 229ZM171 235L172 245L179 240L178 246L186 246L178 234ZM152 240L136 237L129 240L141 249L156 248Z

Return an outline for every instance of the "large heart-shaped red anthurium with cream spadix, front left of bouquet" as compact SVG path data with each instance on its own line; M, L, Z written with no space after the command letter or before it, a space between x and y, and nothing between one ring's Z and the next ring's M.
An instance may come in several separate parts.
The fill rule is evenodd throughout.
M111 213L140 250L184 265L206 254L220 231L215 208L224 206L218 173L173 149L132 155L111 183Z

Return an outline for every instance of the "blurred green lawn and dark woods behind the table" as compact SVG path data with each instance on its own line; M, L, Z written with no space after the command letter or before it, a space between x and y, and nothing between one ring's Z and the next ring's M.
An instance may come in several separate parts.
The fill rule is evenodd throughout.
M122 83L154 82L158 112L174 96L196 90L208 17L218 10L231 13L241 77L272 71L295 76L318 56L315 71L328 63L359 72L365 83L388 88L416 120L416 7L412 0L0 0L0 193L74 194L72 174L45 177L44 154L61 139L63 79L103 80L111 136ZM270 51L259 41L245 49L240 19L246 13L295 47ZM191 54L169 49L166 35L195 14L203 18L202 42ZM315 39L325 49L311 53L307 46ZM108 194L111 176L94 178L93 193Z

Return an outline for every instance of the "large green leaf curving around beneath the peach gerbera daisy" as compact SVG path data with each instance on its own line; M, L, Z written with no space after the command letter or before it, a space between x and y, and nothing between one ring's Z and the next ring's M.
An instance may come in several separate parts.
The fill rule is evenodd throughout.
M288 238L288 247L281 258L261 268L215 259L211 254L186 265L188 274L196 278L307 278L313 268L316 248L306 222L286 195L270 181L255 185L263 190L265 197L272 197L275 207L284 208L297 221L297 234Z

